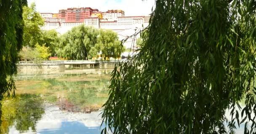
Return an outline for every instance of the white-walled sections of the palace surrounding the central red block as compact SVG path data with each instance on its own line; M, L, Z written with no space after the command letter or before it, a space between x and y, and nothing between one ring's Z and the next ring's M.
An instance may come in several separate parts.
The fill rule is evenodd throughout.
M120 41L127 39L124 43L126 48L134 48L139 35L137 37L130 36L147 27L150 18L149 16L124 16L122 10L108 10L100 13L102 13L102 18L99 16L86 17L84 21L79 22L65 22L65 18L53 18L52 13L41 13L42 17L45 18L45 26L42 29L55 29L58 33L64 34L73 27L84 24L85 26L112 30L117 33ZM135 29L137 31L134 31Z

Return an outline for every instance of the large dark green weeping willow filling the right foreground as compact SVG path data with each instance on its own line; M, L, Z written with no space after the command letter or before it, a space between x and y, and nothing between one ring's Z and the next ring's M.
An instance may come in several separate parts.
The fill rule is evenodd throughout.
M156 0L139 54L112 72L102 132L255 133L255 47L255 0Z

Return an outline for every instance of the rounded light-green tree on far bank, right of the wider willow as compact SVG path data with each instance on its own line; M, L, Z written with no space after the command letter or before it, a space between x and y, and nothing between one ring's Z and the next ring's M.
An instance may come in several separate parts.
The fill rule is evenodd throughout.
M111 30L99 30L99 37L95 47L104 57L120 57L121 53L125 50L123 45L120 44L117 33Z

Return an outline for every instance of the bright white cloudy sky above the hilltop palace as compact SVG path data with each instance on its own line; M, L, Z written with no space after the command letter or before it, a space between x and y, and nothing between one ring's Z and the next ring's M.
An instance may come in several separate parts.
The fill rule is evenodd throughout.
M155 0L28 0L28 5L35 2L40 13L59 13L59 9L72 7L91 7L99 11L122 9L125 16L149 15Z

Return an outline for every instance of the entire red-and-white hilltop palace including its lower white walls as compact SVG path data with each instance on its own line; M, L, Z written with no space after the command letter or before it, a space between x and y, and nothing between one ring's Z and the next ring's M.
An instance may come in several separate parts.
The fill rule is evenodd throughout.
M101 12L92 8L67 8L59 10L58 17L53 13L41 13L45 18L43 30L56 29L58 33L66 33L74 26L84 24L95 28L109 29L117 33L120 40L127 39L135 33L134 29L143 29L149 24L149 16L125 16L123 10ZM128 38L124 46L131 47L133 38Z

